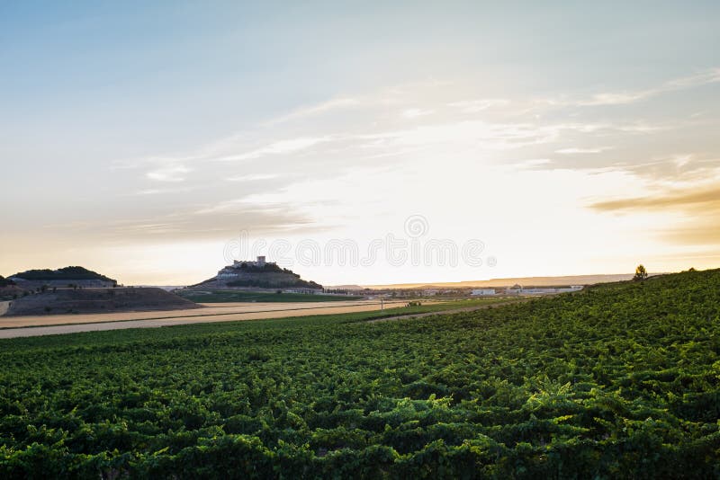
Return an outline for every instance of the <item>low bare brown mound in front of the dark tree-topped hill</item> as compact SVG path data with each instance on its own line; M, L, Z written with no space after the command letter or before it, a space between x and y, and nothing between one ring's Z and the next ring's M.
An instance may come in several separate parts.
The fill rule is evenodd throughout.
M5 316L92 314L197 308L163 289L57 289L14 299Z

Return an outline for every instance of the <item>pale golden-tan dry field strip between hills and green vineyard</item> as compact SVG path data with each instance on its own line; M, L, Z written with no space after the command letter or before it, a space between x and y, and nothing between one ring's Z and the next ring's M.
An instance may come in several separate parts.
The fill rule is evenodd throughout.
M428 302L429 303L429 302ZM401 307L403 301L384 302L385 307ZM347 314L380 310L377 301L318 303L238 303L207 304L202 310L166 312L131 312L121 314L88 314L62 316L0 317L0 338L51 335L57 333L151 328L176 324L235 322L287 316Z

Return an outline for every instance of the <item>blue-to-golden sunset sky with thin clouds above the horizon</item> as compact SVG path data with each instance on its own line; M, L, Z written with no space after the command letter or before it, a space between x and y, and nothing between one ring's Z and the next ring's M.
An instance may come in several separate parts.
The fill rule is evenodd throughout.
M0 274L720 267L720 3L2 2Z

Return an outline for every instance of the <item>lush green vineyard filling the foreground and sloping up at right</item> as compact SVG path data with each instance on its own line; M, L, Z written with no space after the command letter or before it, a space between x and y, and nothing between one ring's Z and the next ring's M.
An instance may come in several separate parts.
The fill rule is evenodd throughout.
M720 476L720 271L0 342L2 478Z

